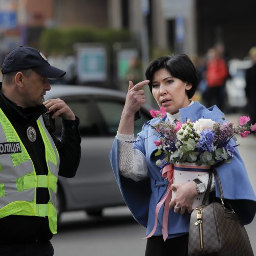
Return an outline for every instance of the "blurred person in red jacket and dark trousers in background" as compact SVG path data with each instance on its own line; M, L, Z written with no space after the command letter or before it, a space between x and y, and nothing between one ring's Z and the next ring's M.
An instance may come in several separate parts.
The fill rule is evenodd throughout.
M203 100L207 107L216 104L223 110L228 70L225 60L218 55L216 49L209 49L206 67L207 88L203 94Z

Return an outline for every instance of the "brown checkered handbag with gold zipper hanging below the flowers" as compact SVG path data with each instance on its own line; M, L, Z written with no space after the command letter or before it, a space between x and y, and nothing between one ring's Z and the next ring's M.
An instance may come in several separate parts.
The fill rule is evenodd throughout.
M221 203L205 205L210 191L212 173L202 205L193 210L189 224L188 255L253 256L253 251L244 226L237 214L226 207L220 178L212 169L217 182Z

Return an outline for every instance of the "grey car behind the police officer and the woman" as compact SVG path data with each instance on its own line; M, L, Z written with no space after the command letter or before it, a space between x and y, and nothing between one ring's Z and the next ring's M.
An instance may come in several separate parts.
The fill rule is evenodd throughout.
M86 86L53 85L45 99L61 98L80 118L82 137L81 161L76 176L59 177L57 192L58 217L61 212L86 210L100 216L105 207L124 205L112 172L109 156L125 101L125 94L110 89ZM144 122L151 119L143 105L141 118L135 122L137 134ZM61 118L56 118L57 136L61 134Z

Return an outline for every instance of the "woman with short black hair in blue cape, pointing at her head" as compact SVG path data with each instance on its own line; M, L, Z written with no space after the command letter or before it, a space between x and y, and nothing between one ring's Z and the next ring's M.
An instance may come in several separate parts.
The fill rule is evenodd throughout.
M194 122L199 118L209 118L219 122L224 114L217 106L206 109L199 102L191 100L197 89L198 78L193 63L185 54L154 60L146 70L146 79L135 86L129 82L111 151L111 164L125 203L134 218L147 228L145 256L188 255L192 204L199 194L204 193L208 174L186 183L172 184L176 197L167 205L168 222L164 226L165 207L161 206L158 215L156 207L166 193L168 180L162 177L160 167L156 165L156 161L163 156L155 156L157 147L154 141L158 137L150 126L159 123L159 118L153 118L150 125L145 123L134 143L127 141L134 140L134 116L146 101L144 91L141 90L146 84L150 86L158 105L167 113L162 118L164 121L178 120L184 123L187 118ZM244 224L250 223L255 215L256 199L237 149L231 163L218 166L217 172L222 181L225 198L232 199L231 204L237 210L240 220ZM214 182L211 190L215 190Z

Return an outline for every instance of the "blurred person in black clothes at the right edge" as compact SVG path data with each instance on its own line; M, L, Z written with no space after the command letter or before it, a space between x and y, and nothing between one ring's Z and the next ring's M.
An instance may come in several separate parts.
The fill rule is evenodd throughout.
M245 94L247 98L247 111L251 118L251 123L256 121L256 46L249 50L249 56L252 60L252 67L246 70Z

